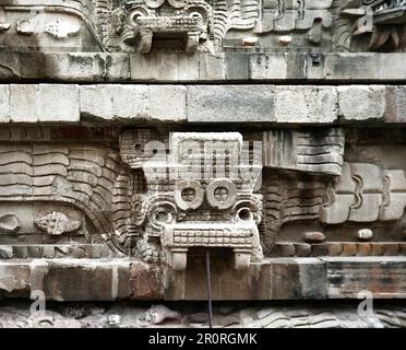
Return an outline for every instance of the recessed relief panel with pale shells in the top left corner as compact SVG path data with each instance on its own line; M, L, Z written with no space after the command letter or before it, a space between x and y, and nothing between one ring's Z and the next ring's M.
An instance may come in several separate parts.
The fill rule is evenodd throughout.
M10 50L103 50L92 0L0 4L0 33L1 46Z

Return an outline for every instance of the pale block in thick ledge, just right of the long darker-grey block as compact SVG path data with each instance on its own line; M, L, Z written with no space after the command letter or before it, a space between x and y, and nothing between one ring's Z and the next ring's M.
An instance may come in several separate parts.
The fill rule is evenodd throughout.
M337 118L337 92L333 86L276 86L275 121L327 124Z

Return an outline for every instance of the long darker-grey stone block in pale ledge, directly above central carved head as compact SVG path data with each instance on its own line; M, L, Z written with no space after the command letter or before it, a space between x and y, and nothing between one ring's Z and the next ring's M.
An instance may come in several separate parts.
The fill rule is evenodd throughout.
M273 121L274 86L188 86L189 122Z

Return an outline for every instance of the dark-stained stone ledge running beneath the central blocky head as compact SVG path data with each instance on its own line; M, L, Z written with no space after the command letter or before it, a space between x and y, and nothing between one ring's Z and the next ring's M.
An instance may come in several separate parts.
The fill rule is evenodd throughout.
M246 271L212 267L215 300L406 298L406 257L274 258ZM74 288L72 288L74 285ZM205 270L186 271L135 259L0 261L0 296L43 290L55 301L205 300Z

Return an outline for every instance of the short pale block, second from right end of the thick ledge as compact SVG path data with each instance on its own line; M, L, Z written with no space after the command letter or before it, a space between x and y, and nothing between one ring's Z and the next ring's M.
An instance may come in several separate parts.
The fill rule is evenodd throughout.
M338 115L345 120L382 119L385 112L385 86L337 86Z

